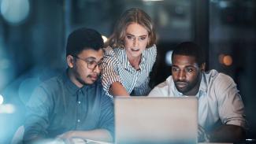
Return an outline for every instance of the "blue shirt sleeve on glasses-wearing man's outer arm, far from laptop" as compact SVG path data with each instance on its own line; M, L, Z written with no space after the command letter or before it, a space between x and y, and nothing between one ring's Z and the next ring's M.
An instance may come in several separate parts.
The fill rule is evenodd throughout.
M42 86L33 91L32 97L26 105L24 142L46 137L46 128L49 126L50 105L52 104L49 94Z

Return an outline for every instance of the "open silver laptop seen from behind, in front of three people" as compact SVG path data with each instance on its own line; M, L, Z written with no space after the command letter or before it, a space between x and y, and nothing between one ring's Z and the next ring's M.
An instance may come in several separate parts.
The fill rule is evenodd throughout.
M115 143L197 143L195 97L116 97Z

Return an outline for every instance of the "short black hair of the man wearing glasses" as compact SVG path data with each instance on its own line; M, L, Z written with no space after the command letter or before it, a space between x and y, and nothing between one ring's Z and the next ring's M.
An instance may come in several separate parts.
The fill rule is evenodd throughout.
M78 28L69 35L66 56L77 55L87 49L100 50L103 45L102 35L98 31L91 28Z

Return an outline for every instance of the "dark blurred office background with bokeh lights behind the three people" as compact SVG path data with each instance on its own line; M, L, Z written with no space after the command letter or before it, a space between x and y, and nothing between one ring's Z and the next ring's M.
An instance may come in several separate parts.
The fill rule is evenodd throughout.
M157 29L158 61L150 85L171 75L165 56L173 46L197 42L208 56L208 68L237 83L250 124L248 138L256 138L256 1L0 0L0 143L9 143L23 124L33 88L66 68L69 32L85 26L108 37L131 7L144 9ZM13 110L5 112L6 105Z

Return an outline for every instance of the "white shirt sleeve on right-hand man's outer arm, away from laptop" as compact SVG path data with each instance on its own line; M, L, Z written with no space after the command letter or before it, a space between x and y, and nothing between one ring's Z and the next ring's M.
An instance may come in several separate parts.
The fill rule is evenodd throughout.
M239 90L236 88L236 83L231 77L221 73L216 80L215 93L222 124L233 124L247 128L244 105Z

